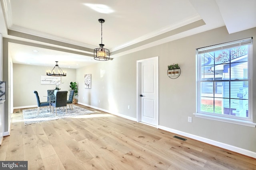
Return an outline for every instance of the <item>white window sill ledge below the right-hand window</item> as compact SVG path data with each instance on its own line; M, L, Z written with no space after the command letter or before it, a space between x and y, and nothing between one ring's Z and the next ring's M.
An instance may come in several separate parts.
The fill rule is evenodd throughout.
M231 119L231 118L226 118L226 117L218 117L218 116L214 116L214 115L205 115L202 113L193 113L193 115L195 115L196 117L204 118L204 119L222 121L222 122L226 122L226 123L233 123L233 124L249 126L249 127L256 127L256 123L253 123L251 121Z

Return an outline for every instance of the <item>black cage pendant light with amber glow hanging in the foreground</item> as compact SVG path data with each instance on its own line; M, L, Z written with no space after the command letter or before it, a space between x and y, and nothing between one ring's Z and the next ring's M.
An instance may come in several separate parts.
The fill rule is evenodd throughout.
M101 23L101 44L100 48L94 49L94 59L99 61L108 61L109 60L109 50L104 49L104 44L102 44L102 23L105 22L103 19L98 20Z

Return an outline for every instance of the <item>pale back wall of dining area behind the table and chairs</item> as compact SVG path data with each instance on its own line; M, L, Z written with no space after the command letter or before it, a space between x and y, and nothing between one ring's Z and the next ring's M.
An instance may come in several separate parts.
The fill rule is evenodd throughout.
M13 64L13 106L24 108L37 106L34 90L38 92L41 102L47 101L47 90L55 89L54 84L41 84L41 75L46 75L46 70L54 67L33 66L26 64ZM61 77L59 87L63 91L70 90L70 82L76 81L76 69L65 68L67 76ZM69 92L68 92L69 94Z

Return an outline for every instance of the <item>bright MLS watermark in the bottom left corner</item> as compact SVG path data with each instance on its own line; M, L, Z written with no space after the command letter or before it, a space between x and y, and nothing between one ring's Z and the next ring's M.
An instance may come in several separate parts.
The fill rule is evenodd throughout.
M0 161L1 170L28 170L28 161Z

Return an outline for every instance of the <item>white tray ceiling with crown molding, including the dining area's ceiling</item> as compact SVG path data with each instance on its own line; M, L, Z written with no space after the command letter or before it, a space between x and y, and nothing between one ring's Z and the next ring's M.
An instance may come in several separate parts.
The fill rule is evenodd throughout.
M79 68L102 62L91 57L93 49L101 43L100 18L105 20L102 24L102 43L110 50L111 58L224 25L229 33L256 27L256 0L0 2L2 36L28 42L26 45L9 44L13 63L20 64L54 66L54 61L59 61L60 67ZM196 26L192 27L191 23ZM26 36L12 31L26 33ZM46 38L44 40L47 41L36 41L28 34ZM61 45L57 41L69 45ZM74 48L72 45L75 45Z

